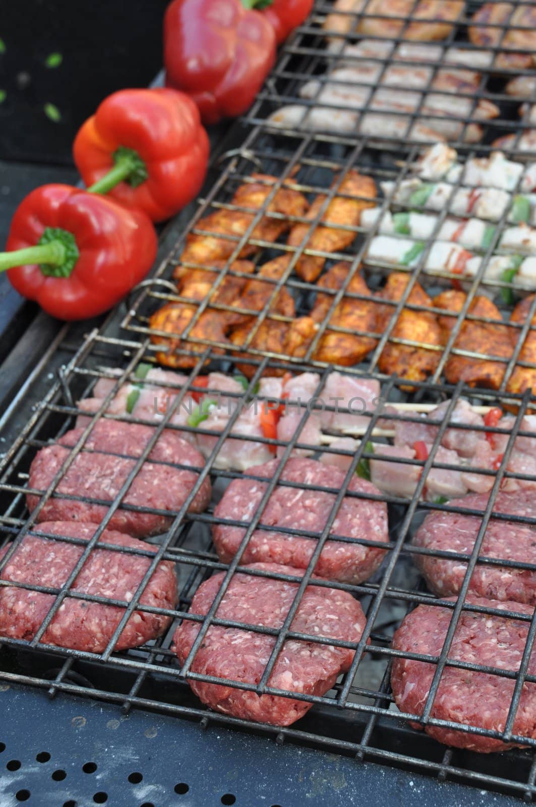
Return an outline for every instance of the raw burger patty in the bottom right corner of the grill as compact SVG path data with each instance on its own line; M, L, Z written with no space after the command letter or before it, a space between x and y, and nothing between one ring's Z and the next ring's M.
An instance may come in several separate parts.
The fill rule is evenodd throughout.
M454 597L450 598L454 600ZM530 605L514 602L498 603L470 597L473 604L488 608L530 614ZM419 605L405 617L396 631L392 646L404 653L423 653L438 656L445 641L452 611L437 605ZM519 669L521 654L529 632L529 622L484 613L463 611L454 633L449 659L465 661L501 670ZM402 712L421 715L426 696L432 684L435 664L410 659L393 659L391 683L396 705ZM529 675L536 674L536 650L529 663ZM482 729L502 731L505 728L515 681L490 673L445 667L433 702L431 717L451 720ZM536 684L524 684L519 709L513 725L513 734L536 737ZM416 724L416 728L419 726ZM425 731L431 737L449 746L469 748L471 751L505 751L517 743L506 745L500 740L478 734L428 725Z

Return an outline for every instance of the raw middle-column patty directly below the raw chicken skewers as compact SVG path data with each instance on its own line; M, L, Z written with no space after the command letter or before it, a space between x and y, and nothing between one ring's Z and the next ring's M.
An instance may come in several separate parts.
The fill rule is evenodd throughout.
M248 479L260 476L271 479L278 460L249 468L241 479L233 479L224 493L214 515L218 519L245 521L248 524L258 508L266 483ZM308 458L291 458L287 461L280 481L299 483L299 488L278 484L262 513L260 523L274 527L321 533L328 521L335 494L311 491L308 486L319 485L339 489L345 471ZM350 491L380 495L377 487L356 476L350 482ZM224 562L229 562L244 537L245 529L230 525L215 525L213 538L216 550ZM387 506L383 502L345 496L331 533L370 541L387 541ZM271 530L256 529L249 538L241 562L283 563L296 569L305 569L316 547L315 538L299 537ZM375 546L327 541L316 564L315 574L329 580L362 583L382 562L385 550Z

